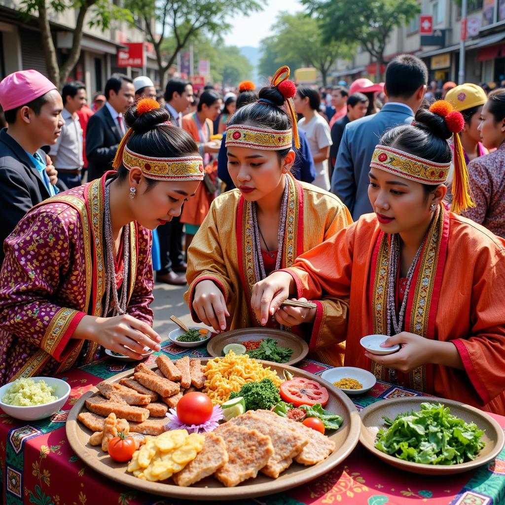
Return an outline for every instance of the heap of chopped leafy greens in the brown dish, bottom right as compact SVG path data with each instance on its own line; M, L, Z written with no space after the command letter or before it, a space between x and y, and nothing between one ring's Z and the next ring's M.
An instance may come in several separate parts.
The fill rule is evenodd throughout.
M421 403L418 412L383 417L389 428L377 434L375 446L400 460L425 465L456 465L475 460L484 447L483 430L450 414L440 403Z

